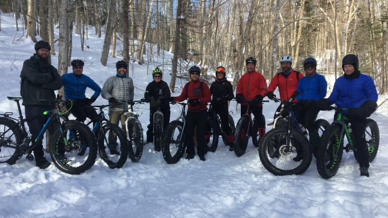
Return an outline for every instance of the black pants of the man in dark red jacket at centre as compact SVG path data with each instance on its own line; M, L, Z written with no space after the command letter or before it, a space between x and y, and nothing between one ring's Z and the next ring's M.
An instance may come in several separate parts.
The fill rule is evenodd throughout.
M188 111L186 116L185 143L188 155L195 155L194 150L194 128L196 126L196 141L198 143L198 156L205 154L205 133L206 133L207 110Z

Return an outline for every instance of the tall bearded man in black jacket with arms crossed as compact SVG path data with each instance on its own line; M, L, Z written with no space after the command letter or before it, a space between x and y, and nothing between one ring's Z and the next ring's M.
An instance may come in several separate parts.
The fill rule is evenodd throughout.
M23 63L20 73L20 94L23 98L27 125L34 140L48 119L43 115L44 111L55 108L54 90L62 87L61 76L54 66L48 62L51 47L45 41L35 44L35 54ZM48 100L48 101L41 101ZM55 122L48 126L49 133L55 130ZM50 165L43 153L42 141L34 148L36 166L45 169Z

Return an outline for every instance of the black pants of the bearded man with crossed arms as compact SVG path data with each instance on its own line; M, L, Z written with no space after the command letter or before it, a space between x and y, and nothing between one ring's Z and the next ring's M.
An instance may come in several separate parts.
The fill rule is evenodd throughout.
M49 115L43 115L44 111L52 110L54 109L54 106L32 106L32 105L26 105L25 108L25 117L27 119L27 125L29 132L31 133L31 139L32 142L36 139L38 136L40 130L46 123L47 119L50 117ZM55 129L58 128L57 121L52 120L47 126L47 130L49 134L53 134ZM37 142L37 145L33 149L35 159L39 160L43 157L43 134L40 138L40 140Z

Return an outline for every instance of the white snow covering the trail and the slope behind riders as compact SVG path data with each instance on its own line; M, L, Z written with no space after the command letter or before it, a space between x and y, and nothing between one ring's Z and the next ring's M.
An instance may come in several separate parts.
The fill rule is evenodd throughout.
M0 113L16 112L16 105L6 96L20 95L22 63L34 53L34 43L21 37L21 31L15 31L9 14L1 13L0 18ZM115 74L114 64L121 57L109 57L104 67L99 63L103 38L89 35L86 45L90 49L85 48L84 52L79 48L79 38L78 35L73 37L72 59L85 60L84 73L102 87L105 79ZM117 47L121 46L117 43ZM170 82L171 63L167 60L171 60L172 54L166 52L152 60L144 57L145 65L134 63L130 67L135 100L143 97L146 85L152 80L147 72L163 64L162 57L167 64L162 66L163 79ZM51 58L57 66L57 56ZM329 77L328 81L334 83ZM184 83L177 80L173 96L181 92ZM91 95L92 91L88 90L87 96ZM96 104L104 103L106 100L101 97L96 101ZM277 106L273 102L264 105L267 123L272 121ZM230 110L237 122L239 112L235 102L231 103ZM23 157L14 165L0 164L0 217L386 218L387 111L387 105L383 105L371 117L379 125L381 139L369 178L360 176L353 153L344 153L338 173L329 180L318 175L315 159L302 175L274 176L263 167L257 148L251 142L246 153L236 157L222 140L216 152L206 154L204 162L196 156L190 161L181 159L177 164L167 164L162 153L155 152L153 144L147 144L138 163L128 159L122 168L110 169L97 157L96 164L81 175L65 174L53 164L42 170L34 161ZM142 105L138 113L146 129L148 105ZM171 120L179 113L178 106L171 106ZM331 122L333 114L325 111L318 117ZM49 154L45 156L50 160Z

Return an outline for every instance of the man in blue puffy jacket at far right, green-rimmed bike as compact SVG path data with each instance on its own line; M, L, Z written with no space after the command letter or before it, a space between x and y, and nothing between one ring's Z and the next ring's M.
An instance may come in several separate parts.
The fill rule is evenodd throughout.
M354 151L360 165L361 176L369 177L369 152L365 141L367 117L377 109L377 89L373 79L358 70L358 57L346 55L342 59L344 75L337 78L329 98L322 99L317 106L324 109L327 105L349 108L343 111L352 126L356 150Z

